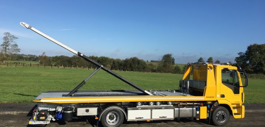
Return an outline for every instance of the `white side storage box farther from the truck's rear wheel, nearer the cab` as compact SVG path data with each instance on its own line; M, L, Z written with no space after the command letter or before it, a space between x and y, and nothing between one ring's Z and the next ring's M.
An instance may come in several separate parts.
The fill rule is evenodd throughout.
M152 119L174 118L174 109L153 109Z

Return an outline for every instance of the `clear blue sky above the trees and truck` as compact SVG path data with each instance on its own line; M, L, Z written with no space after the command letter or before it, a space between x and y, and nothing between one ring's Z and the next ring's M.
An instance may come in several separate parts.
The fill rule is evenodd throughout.
M265 43L265 0L0 0L0 16L0 38L10 32L33 55L73 54L21 21L87 56L119 59L225 63Z

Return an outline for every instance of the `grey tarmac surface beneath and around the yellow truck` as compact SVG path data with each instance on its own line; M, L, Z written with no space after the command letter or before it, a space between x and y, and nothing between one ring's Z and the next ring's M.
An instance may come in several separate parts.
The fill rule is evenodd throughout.
M0 104L0 127L31 127L28 125L28 120L31 117L30 110L36 104L21 103L21 104ZM245 118L235 119L230 117L227 127L265 127L265 105L264 104L245 104ZM82 119L74 119L71 122L52 122L47 127L97 127L97 121L94 117ZM101 124L99 124L101 126ZM122 127L213 127L206 120L164 120L164 121L138 121L124 122Z

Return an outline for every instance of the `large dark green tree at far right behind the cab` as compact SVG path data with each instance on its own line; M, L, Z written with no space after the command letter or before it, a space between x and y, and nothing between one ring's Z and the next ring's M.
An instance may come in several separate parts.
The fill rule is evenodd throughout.
M235 61L248 73L265 74L265 44L250 44Z

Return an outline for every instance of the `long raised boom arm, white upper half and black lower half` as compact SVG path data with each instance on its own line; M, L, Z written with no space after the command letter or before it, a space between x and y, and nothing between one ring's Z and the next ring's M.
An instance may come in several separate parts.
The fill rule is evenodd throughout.
M146 94L146 95L153 95L152 93L150 93L150 92L144 90L143 88L139 87L138 85L133 84L133 83L130 82L129 80L127 80L127 79L123 78L122 76L116 74L115 72L109 70L108 68L106 68L106 67L103 66L102 64L100 64L100 63L98 63L98 62L96 62L96 61L94 61L94 60L88 58L87 56L83 55L82 53L77 52L77 51L75 51L74 49L72 49L72 48L70 48L70 47L64 45L63 43L61 43L61 42L59 42L59 41L53 39L52 37L50 37L50 36L48 36L48 35L42 33L41 31L39 31L39 30L37 30L36 28L34 28L34 27L28 25L27 23L25 23L25 22L20 22L20 24L21 24L22 26L28 28L28 29L31 29L32 31L36 32L37 34L43 36L44 38L47 38L48 40L50 40L50 41L52 41L52 42L54 42L54 43L60 45L61 47L63 47L63 48L65 48L65 49L69 50L70 52L72 52L72 53L78 55L79 57L83 58L84 60L86 60L86 61L88 61L88 62L90 62L90 63L93 63L93 64L96 65L97 67L101 67L101 68L102 68L103 70L105 70L107 73L109 73L109 74L113 75L114 77L120 79L121 81L125 82L126 84L131 85L132 87L134 87L134 88L136 88L137 90L143 92L144 94ZM77 88L77 89L78 89L78 88ZM77 90L77 89L76 89L76 90Z

